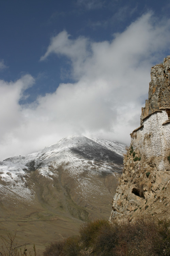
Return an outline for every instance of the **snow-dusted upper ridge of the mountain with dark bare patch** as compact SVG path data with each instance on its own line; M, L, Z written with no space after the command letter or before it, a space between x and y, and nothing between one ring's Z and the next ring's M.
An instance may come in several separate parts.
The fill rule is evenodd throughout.
M15 184L17 187L16 180L20 181L20 183L27 183L25 178L28 173L35 170L39 170L41 175L50 179L50 175L53 176L53 173L50 171L49 166L52 165L53 168L56 168L57 166L61 166L63 162L72 165L70 170L73 169L73 171L70 171L70 174L75 174L78 172L75 170L76 163L78 166L80 163L85 164L86 159L90 161L91 166L95 167L97 164L99 170L102 169L107 172L112 172L112 165L106 164L105 161L114 161L114 168L119 170L118 165L122 163L122 155L120 156L120 154L121 152L122 154L125 152L123 149L125 145L106 140L107 144L112 143L113 145L108 146L106 144L104 146L104 144L101 145L99 142L100 139L96 142L84 136L69 136L38 152L26 156L7 158L0 162L1 180L6 182L10 182L11 180L13 186ZM118 150L118 154L114 152L116 149ZM73 163L71 163L72 159L74 159ZM6 173L4 173L5 171ZM23 186L23 189L25 189L25 186ZM26 194L29 194L31 198L32 196L29 190L26 190Z

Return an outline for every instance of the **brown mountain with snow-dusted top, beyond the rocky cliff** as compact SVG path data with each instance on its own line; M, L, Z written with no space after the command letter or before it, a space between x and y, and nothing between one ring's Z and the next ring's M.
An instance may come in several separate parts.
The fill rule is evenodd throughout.
M22 233L21 220L27 230L34 222L36 240L43 232L41 222L45 226L57 220L46 227L48 242L53 240L51 230L56 232L59 226L60 235L66 237L78 227L76 223L108 218L125 152L122 143L70 136L38 152L1 161L0 222L6 225L4 230L10 231L13 225ZM74 225L68 230L64 223Z

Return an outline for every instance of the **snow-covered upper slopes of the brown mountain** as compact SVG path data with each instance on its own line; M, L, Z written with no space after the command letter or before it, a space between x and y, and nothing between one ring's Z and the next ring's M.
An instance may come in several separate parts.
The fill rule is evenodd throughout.
M34 182L31 173L53 180L58 177L57 169L62 167L76 180L81 193L91 188L90 177L122 171L125 145L109 140L70 136L38 152L16 156L0 162L1 198L14 193L20 199L34 200ZM82 177L88 172L88 178ZM80 177L81 176L81 177ZM5 191L5 192L4 192Z

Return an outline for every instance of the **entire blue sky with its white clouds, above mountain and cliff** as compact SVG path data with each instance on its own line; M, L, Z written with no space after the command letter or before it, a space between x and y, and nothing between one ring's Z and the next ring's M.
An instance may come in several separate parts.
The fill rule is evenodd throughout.
M70 134L130 143L169 1L0 1L0 160Z

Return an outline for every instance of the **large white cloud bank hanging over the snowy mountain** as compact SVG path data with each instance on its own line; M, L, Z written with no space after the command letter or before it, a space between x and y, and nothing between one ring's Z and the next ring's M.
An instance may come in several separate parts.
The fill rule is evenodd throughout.
M41 60L51 54L69 58L76 82L60 84L54 93L22 106L18 102L33 77L0 82L1 160L40 150L70 134L129 143L148 97L151 66L165 57L169 32L169 20L155 22L147 13L111 42L72 39L66 31L53 37Z

